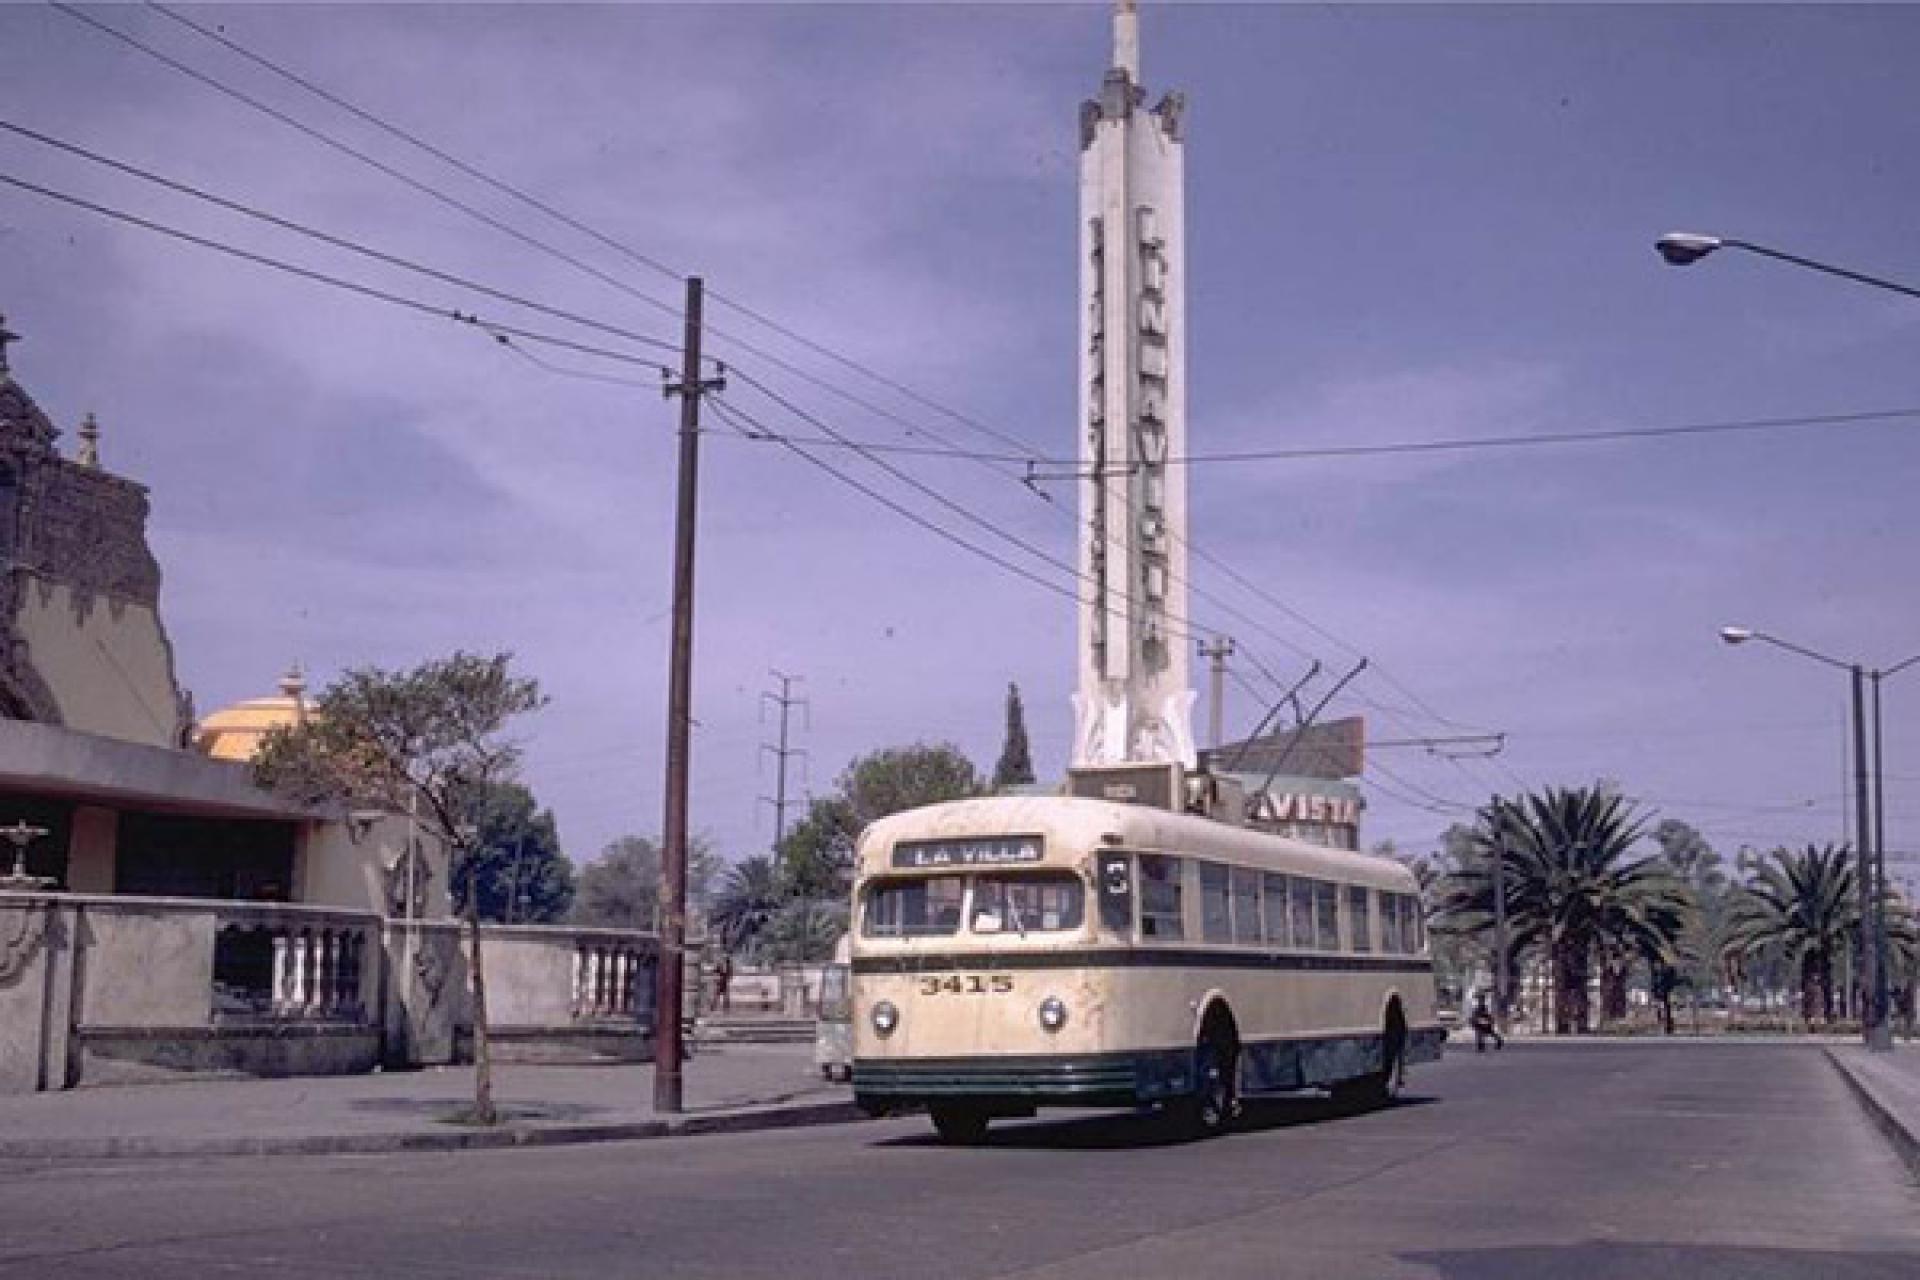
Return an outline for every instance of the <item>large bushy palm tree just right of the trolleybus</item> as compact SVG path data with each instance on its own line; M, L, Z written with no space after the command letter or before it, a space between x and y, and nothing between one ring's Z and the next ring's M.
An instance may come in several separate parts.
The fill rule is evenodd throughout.
M1509 956L1542 950L1553 983L1553 1029L1586 1031L1588 979L1601 965L1607 1006L1624 1013L1634 960L1670 965L1693 915L1692 896L1657 856L1634 858L1644 823L1607 787L1549 787L1482 810L1476 858L1450 877L1452 929L1484 933L1494 917L1494 865L1503 869Z

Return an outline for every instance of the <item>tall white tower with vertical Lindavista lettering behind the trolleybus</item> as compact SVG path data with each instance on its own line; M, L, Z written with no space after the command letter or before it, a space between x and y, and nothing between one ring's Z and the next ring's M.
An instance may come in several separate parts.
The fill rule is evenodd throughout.
M1187 255L1181 115L1140 88L1140 19L1081 104L1081 547L1073 764L1194 766L1187 683Z

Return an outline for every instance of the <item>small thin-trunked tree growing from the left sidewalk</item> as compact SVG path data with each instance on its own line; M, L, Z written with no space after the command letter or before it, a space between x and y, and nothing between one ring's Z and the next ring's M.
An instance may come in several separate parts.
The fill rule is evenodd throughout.
M407 672L374 666L344 672L321 691L313 712L267 733L253 756L255 779L307 804L378 806L417 812L440 837L453 865L474 869L474 814L490 787L513 781L520 748L507 723L545 699L511 672L513 656L455 652ZM467 917L474 1000L472 1121L493 1125L493 1063L486 1025L486 967L480 954L480 894L455 881Z

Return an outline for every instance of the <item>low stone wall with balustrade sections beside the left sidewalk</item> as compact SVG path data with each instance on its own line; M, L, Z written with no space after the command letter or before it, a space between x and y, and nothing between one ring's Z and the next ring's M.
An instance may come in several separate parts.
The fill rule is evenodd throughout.
M486 925L482 956L497 1057L651 1055L651 935ZM0 892L0 1094L420 1067L461 1059L470 1040L453 921Z

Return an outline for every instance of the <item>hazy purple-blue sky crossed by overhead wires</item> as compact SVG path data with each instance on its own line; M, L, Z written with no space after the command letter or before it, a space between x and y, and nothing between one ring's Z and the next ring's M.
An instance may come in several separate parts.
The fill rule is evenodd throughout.
M1041 455L1073 447L1075 113L1106 65L1104 6L184 12L943 407ZM88 13L626 290L50 8L0 8L0 119L678 340L676 280L152 10ZM1920 652L1920 303L1753 255L1682 273L1651 244L1711 230L1920 282L1920 10L1148 6L1142 27L1150 90L1190 102L1194 453L1916 411L1194 466L1194 541L1263 587L1198 562L1198 626L1283 679L1309 652L1369 654L1384 676L1334 710L1375 737L1509 735L1498 760L1379 752L1392 773L1369 779L1367 839L1425 848L1453 806L1594 779L1728 854L1837 839L1843 677L1715 629L1880 666ZM622 345L12 134L0 173ZM42 407L69 430L96 411L108 466L152 486L165 620L204 710L271 691L294 658L324 681L513 649L553 697L526 725L528 777L568 852L659 829L676 407L653 370L541 353L639 386L561 376L468 328L8 188L0 311ZM818 434L747 376L868 441L1004 451L718 299L710 320L741 374L726 403L776 430ZM1069 583L858 457L820 457ZM1071 560L1069 486L1048 505L993 466L895 464ZM1041 771L1060 773L1068 601L778 445L708 436L701 503L693 800L724 852L772 837L768 668L804 677L795 741L816 789L914 739L991 768L1010 679ZM1920 848L1914 708L1920 668L1887 685L1897 850ZM1235 727L1260 710L1235 683Z

